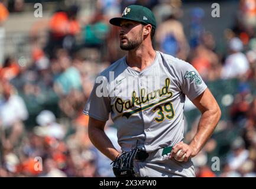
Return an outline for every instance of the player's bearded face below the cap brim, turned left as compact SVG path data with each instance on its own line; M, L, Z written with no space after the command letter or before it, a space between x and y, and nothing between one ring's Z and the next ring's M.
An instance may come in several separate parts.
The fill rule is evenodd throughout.
M143 26L140 22L122 21L120 37L120 48L122 50L134 50L143 41Z

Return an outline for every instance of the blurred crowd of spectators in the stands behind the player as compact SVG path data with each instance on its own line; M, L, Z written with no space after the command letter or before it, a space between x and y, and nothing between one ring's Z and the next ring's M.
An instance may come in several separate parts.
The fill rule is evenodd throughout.
M219 18L210 1L0 1L0 177L114 177L82 109L98 73L125 55L109 19L129 4L153 10L155 49L191 63L221 107L193 158L197 177L255 177L256 0L215 2ZM185 115L189 142L200 118L189 100ZM106 133L120 149L111 120Z

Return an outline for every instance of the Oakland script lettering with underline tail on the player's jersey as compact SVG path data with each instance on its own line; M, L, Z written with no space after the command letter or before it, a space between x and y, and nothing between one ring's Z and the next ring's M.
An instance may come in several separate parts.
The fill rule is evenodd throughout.
M132 92L131 100L124 100L121 97L117 97L115 100L115 109L118 113L122 113L125 110L131 110L135 105L140 106L137 109L125 112L122 116L129 118L134 113L148 109L154 105L165 102L173 96L173 93L169 90L170 79L166 78L165 85L161 89L154 90L148 94L145 94L145 89L141 89L140 96L137 96L135 91ZM167 95L168 94L168 95ZM151 103L149 103L151 102ZM147 104L145 106L141 106Z

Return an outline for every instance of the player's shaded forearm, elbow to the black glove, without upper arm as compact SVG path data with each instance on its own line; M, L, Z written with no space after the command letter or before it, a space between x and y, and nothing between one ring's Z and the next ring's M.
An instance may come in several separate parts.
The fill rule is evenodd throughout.
M115 149L106 133L99 128L89 127L89 138L93 145L112 161L118 156L119 152Z

